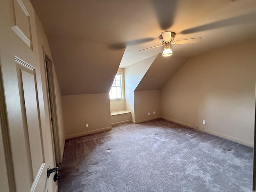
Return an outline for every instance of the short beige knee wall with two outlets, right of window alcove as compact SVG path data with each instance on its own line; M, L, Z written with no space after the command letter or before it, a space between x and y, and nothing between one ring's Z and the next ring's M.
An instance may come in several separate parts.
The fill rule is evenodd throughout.
M135 91L134 105L135 123L160 118L160 90Z

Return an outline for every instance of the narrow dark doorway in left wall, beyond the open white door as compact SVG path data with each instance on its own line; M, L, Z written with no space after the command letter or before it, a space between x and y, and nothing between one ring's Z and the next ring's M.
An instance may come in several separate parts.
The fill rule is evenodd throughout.
M52 138L53 138L53 146L54 146L54 156L56 164L62 162L61 150L60 150L60 137L58 130L58 118L57 118L57 109L56 109L56 96L55 96L55 88L54 88L54 76L53 76L53 68L52 61L50 58L45 56L45 66L46 66L46 79L47 79L47 87L48 87L48 105L49 105L49 114L50 114L50 122L52 127Z

